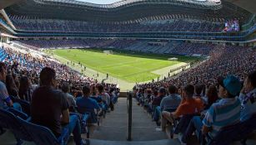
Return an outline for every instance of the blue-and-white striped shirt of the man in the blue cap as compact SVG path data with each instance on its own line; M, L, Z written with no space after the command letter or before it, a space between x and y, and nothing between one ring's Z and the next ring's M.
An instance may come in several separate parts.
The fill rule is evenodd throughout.
M208 109L205 118L203 118L203 124L208 128L213 128L209 135L214 137L221 128L238 123L240 111L239 99L221 99Z

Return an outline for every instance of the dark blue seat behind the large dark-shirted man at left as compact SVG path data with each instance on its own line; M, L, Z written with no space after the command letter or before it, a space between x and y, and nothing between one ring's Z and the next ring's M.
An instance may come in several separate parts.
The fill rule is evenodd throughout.
M33 142L37 145L66 145L69 138L68 128L64 128L65 130L61 134L59 138L56 138L53 132L46 127L29 123L23 118L18 118L18 122L23 125L23 127L28 131L30 136L33 139Z

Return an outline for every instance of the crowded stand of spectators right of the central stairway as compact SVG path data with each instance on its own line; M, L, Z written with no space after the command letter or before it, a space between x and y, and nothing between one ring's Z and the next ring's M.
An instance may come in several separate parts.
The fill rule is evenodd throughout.
M138 104L181 144L246 142L256 129L256 51L219 46L209 60L174 79L134 86ZM241 135L242 134L242 135ZM227 138L228 137L228 138Z

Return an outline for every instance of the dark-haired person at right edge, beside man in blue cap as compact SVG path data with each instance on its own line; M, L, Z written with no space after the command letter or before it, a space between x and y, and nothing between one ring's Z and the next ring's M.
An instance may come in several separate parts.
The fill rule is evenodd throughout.
M241 121L245 121L256 114L256 70L249 73L244 80L239 99L242 103Z

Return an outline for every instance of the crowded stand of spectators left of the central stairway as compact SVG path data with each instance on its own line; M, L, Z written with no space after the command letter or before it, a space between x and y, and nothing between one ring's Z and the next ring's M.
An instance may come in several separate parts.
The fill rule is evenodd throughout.
M53 140L67 144L71 133L74 143L88 144L81 133L89 134L89 127L99 125L99 120L113 111L118 101L116 85L98 84L97 80L48 58L11 48L0 51L0 133L10 129L18 144L52 144ZM9 122L6 115L12 116L15 123ZM17 122L24 129L14 128ZM45 136L45 128L53 140ZM20 135L24 133L28 133L26 137Z

